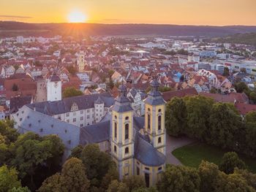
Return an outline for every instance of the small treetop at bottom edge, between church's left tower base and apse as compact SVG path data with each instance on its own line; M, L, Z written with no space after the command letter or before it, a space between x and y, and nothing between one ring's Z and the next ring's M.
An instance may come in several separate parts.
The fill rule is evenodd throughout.
M127 185L129 191L134 191L138 188L146 188L146 183L143 177L138 175L124 177L123 183Z

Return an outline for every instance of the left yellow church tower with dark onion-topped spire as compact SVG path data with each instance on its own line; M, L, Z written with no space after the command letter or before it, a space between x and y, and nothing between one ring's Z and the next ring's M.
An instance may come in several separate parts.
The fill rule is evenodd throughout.
M112 109L110 124L111 155L116 162L120 180L134 172L133 110L127 88L119 86L119 96Z

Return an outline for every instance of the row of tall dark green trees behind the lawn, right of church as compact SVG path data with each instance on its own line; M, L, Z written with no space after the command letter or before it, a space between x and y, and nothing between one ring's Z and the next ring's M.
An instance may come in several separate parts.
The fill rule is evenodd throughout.
M256 112L241 118L230 103L203 96L174 98L166 108L167 133L256 157Z

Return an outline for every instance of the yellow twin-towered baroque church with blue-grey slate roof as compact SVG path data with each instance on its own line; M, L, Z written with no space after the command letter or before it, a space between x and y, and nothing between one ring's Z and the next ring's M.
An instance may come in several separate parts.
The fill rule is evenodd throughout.
M144 101L145 118L135 118L127 88L120 85L110 120L110 151L120 179L141 175L147 186L157 183L165 169L165 101L158 87L157 80L152 80ZM135 126L138 121L140 125Z

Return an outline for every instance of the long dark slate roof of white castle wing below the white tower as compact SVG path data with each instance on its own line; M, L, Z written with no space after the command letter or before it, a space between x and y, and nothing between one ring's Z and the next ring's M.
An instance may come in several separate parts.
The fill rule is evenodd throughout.
M37 112L42 112L46 115L59 115L70 112L72 104L78 104L78 110L86 110L94 107L94 102L100 97L105 104L105 107L110 107L114 104L114 99L110 93L98 93L92 95L73 96L61 101L43 101L27 106Z

